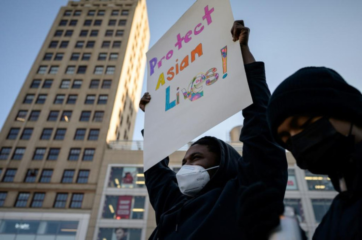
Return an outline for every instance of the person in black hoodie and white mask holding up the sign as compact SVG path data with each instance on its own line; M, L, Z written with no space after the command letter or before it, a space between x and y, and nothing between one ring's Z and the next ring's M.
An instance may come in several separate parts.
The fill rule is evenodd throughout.
M151 240L267 239L283 213L287 161L268 129L264 63L250 53L249 28L242 20L234 22L231 33L240 42L253 99L242 111L243 156L207 136L187 150L177 174L168 167L168 157L148 169L145 181L157 222ZM140 108L144 111L150 101L145 93ZM267 203L253 201L255 192ZM250 203L253 207L245 208Z

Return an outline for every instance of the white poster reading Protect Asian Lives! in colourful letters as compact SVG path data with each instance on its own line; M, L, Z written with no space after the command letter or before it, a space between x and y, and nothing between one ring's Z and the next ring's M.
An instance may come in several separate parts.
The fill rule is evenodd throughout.
M229 0L197 0L146 54L144 171L252 103L233 22Z

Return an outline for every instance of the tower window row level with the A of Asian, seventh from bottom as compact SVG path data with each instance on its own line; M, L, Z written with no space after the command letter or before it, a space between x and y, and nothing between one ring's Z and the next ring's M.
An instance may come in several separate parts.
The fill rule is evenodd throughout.
M81 79L75 79L73 80L73 83L71 83L70 79L63 79L60 82L60 86L59 88L63 88L63 89L67 89L70 86L72 86L72 88L81 88L83 80ZM89 88L98 88L99 87L99 83L100 80L99 79L93 79L91 80L91 83L89 85ZM50 88L53 84L53 79L46 79L43 82L42 88ZM30 88L38 88L41 85L41 79L34 79L32 80L31 84L30 84ZM112 85L112 80L103 80L102 81L102 85L101 88L111 88Z

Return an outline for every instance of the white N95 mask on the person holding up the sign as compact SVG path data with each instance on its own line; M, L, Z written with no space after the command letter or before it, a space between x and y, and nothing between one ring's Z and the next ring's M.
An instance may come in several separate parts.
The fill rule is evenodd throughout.
M219 166L205 169L199 165L183 165L176 174L181 193L190 197L195 196L210 181L208 170L216 167Z

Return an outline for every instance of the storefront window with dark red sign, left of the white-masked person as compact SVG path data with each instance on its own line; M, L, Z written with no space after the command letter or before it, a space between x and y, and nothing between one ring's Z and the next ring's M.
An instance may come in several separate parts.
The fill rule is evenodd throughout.
M106 196L103 218L143 219L145 212L144 196Z

